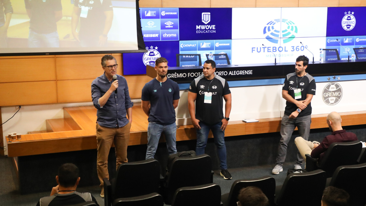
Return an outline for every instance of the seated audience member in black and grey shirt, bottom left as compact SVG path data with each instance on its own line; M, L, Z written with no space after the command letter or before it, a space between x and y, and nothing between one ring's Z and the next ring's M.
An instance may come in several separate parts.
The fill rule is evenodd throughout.
M52 188L51 195L41 198L37 206L67 206L97 200L89 192L76 192L80 181L79 168L72 163L61 165L56 176L57 186Z

